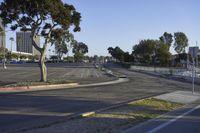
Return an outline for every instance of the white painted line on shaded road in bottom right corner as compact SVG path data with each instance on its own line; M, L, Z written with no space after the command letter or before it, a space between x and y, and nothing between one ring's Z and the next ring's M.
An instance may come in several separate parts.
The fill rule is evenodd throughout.
M188 110L187 112L185 112L185 113L183 113L183 114L175 117L174 119L169 120L168 122L165 122L165 123L161 124L160 126L158 126L158 127L154 128L154 129L148 131L147 133L155 133L155 132L159 131L160 129L162 129L162 128L168 126L169 124L177 121L178 119L182 118L183 116L190 114L191 112L195 111L198 108L200 108L200 105L198 105L198 106L196 106L196 107Z

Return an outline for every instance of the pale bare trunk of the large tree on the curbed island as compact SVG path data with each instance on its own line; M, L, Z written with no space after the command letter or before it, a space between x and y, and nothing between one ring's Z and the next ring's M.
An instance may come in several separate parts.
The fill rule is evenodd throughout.
M46 82L47 81L47 68L45 65L45 50L40 52L40 60L39 60L39 67L40 67L40 81Z

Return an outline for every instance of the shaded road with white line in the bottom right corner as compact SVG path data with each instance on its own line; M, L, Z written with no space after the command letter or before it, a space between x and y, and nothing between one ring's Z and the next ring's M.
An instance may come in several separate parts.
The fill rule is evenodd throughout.
M200 101L128 129L125 133L199 133Z

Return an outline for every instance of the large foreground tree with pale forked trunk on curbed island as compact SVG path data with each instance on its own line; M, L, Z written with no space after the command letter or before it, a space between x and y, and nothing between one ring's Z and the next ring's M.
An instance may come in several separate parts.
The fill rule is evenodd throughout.
M10 24L11 30L31 31L32 45L40 52L40 81L47 81L47 46L53 39L69 32L71 26L74 26L74 32L80 31L80 13L61 0L4 0L0 10L3 23ZM36 44L37 36L44 38L42 47Z

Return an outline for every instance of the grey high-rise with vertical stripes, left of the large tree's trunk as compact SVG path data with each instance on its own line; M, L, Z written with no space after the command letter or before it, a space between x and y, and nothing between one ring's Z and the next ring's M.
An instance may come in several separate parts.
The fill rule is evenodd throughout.
M31 53L33 55L39 55L39 52L32 45L33 39L30 31L20 31L16 34L17 51L24 53ZM40 37L36 37L36 44L40 44Z

